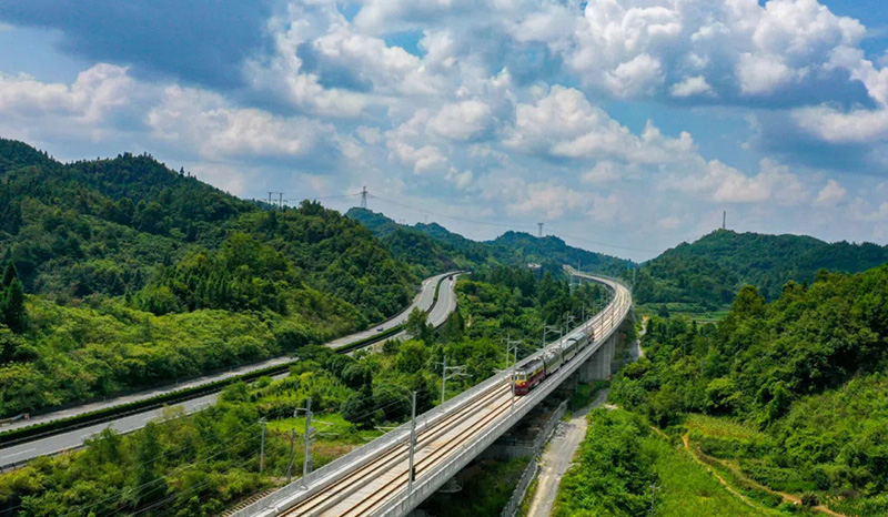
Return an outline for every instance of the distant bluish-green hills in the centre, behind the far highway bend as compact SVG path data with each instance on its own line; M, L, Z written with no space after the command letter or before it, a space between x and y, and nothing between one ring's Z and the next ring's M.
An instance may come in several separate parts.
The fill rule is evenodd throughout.
M506 232L493 241L480 242L437 223L402 225L365 209L352 209L346 216L360 221L381 236L396 256L432 268L536 263L553 272L561 271L563 264L572 264L582 265L586 271L619 274L634 265L632 261L569 246L552 235L541 239L522 232ZM403 243L410 243L412 247Z

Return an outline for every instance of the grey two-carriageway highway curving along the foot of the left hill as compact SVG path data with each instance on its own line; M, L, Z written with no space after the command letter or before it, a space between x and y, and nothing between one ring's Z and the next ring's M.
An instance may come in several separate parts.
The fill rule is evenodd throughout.
M438 302L437 302L437 304L434 305L434 307L432 307L432 304L433 304L433 301L434 301L434 295L435 295L435 286L437 285L438 280L441 280L442 277L454 276L454 275L455 275L455 273L452 272L452 273L445 273L445 274L442 274L442 275L436 275L436 276L433 276L431 278L426 278L422 284L422 290L415 296L415 298L413 300L413 303L411 303L411 305L405 311L398 313L396 316L394 316L393 318L391 318L391 320L389 320L389 321L386 321L386 322L384 322L382 324L377 324L377 325L372 326L370 331L359 332L359 333L352 334L350 336L342 337L342 338L336 339L334 342L327 343L326 346L339 347L339 346L342 346L342 345L346 345L346 344L355 342L357 339L363 339L363 338L365 338L367 336L375 335L379 332L379 331L376 331L376 328L380 327L380 326L382 326L383 328L391 328L392 326L400 325L400 324L402 324L402 323L404 323L406 321L407 315L410 315L410 312L413 311L414 307L420 307L420 310L426 311L426 312L430 311L430 308L432 308L432 312L431 312L431 314L428 316L428 321L430 322L443 323L444 320L446 320L446 317L450 314L450 312L452 312L456 307L456 293L454 292L455 282L453 282L451 280L444 280L444 282L442 282L441 291L438 293ZM401 335L401 334L398 334L398 335ZM97 410L97 409L100 409L100 408L113 407L115 405L124 404L124 403L128 403L128 402L133 402L133 401L139 401L139 399L142 399L142 398L153 397L153 396L161 395L161 394L164 394L164 393L176 392L179 389L182 389L182 388L185 388L185 387L190 387L190 386L199 386L199 385L206 384L206 383L210 383L210 382L228 378L228 377L231 377L233 375L242 375L242 374L255 371L255 369L266 368L269 366L274 366L274 365L279 365L279 364L286 364L286 363L292 362L292 361L293 361L292 357L279 357L279 358L266 361L266 362L263 362L263 363L260 363L260 364L253 364L253 365L250 365L250 366L244 366L244 367L241 367L241 368L236 368L236 369L233 369L231 372L225 372L225 373L218 374L218 375L210 375L210 376L206 376L206 377L201 377L201 378L191 381L189 383L182 383L182 384L179 384L179 385L175 385L175 386L168 386L168 387L163 387L163 388L153 389L153 391L150 391L150 392L143 392L143 393L140 393L140 394L134 394L134 395L129 395L129 396L125 396L125 397L114 398L112 401L108 401L108 402L103 402L103 403L88 404L88 405L84 405L84 406L78 406L78 407L73 407L73 408L70 408L70 409L61 410L61 412L49 413L47 415L42 415L42 416L39 416L39 417L31 418L30 420L18 422L18 423L16 423L13 425L3 427L3 430L13 429L13 428L17 428L17 427L23 427L23 426L28 426L28 425L33 425L34 423L38 423L38 422L49 422L49 420L52 420L52 419L63 418L63 417L68 417L68 416L74 416L74 415L78 415L78 414L81 414L81 413L92 412L92 410ZM281 375L276 376L275 378L282 378L284 376L286 376L286 374L281 374ZM190 413L194 413L196 410L203 409L204 407L208 407L208 406L212 405L213 403L215 403L218 396L219 396L218 393L212 393L212 394L209 394L209 395L204 395L204 396L201 396L201 397L192 398L190 401L185 401L185 402L175 404L175 406L182 406L185 409L185 412L190 414ZM135 429L140 429L140 428L144 427L144 425L148 422L150 422L153 418L157 418L158 416L160 416L161 413L163 412L163 409L164 408L162 408L162 407L161 408L157 408L157 409L150 409L150 410L145 410L145 412L141 412L141 413L134 414L134 415L123 416L123 417L117 418L117 419L111 420L111 422L104 422L104 423L101 423L101 424L95 424L95 425L92 425L92 426L82 427L82 428L79 428L79 429L74 429L74 430L67 432L67 433L61 433L61 434L49 436L49 437L46 437L46 438L34 439L34 440L26 442L23 444L0 448L0 470L3 470L4 468L9 468L9 467L11 467L13 465L20 464L22 462L27 462L29 459L33 459L33 458L39 457L39 456L44 456L44 455L48 455L48 454L56 454L56 453L60 453L62 450L69 450L69 449L72 449L72 448L78 448L78 447L83 445L83 442L85 439L88 439L89 437L100 433L102 429L104 429L107 427L111 427L111 428L118 430L119 433L130 433L130 432L133 432Z

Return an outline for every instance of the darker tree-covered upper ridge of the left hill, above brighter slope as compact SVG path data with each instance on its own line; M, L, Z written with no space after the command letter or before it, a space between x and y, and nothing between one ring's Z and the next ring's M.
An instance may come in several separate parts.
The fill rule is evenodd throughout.
M150 155L62 164L0 140L0 256L11 254L30 293L135 294L157 266L183 267L185 256L221 250L239 233L283 253L297 282L334 292L367 317L396 311L416 281L336 212L315 204L269 212ZM395 296L366 300L354 290L364 283L394 283L385 297Z

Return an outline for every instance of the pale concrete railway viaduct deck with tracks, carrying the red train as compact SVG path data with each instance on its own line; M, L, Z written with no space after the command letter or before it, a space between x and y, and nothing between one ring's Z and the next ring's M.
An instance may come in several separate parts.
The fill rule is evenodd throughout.
M577 356L526 396L514 396L509 372L421 415L416 423L415 480L408 488L410 423L312 473L307 488L297 480L238 511L238 517L405 515L450 479L534 405L588 359L616 333L632 296L613 280L581 275L610 287L614 297L602 313L572 330L564 341L596 337ZM558 349L561 342L545 349ZM538 356L533 354L521 363Z

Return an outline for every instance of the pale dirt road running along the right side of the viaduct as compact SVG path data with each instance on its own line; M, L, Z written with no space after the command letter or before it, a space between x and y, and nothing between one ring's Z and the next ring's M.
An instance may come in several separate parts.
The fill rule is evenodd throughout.
M541 460L541 469L537 476L536 491L531 500L527 517L547 517L552 513L555 504L555 496L558 495L558 485L562 477L573 465L583 438L586 437L586 414L594 407L599 407L607 401L607 389L602 389L595 396L595 401L583 409L574 413L569 422L561 423L555 430Z

